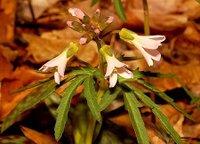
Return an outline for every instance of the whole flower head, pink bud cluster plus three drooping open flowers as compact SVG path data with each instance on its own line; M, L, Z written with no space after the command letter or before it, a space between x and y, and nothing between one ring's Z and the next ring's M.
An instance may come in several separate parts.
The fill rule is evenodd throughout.
M86 44L91 40L99 40L100 32L103 31L113 21L113 17L107 17L103 19L100 18L100 10L96 10L92 18L78 8L70 8L68 11L72 16L77 17L80 22L67 21L67 25L76 31L85 32L85 34L79 40L80 45ZM160 61L161 54L157 48L161 45L161 42L165 40L165 36L139 36L126 28L121 29L119 36L120 39L124 40L125 42L133 44L142 53L149 66L153 65L153 60ZM44 64L39 70L48 71L50 69L55 69L55 82L60 84L61 78L64 77L67 62L77 51L77 44L70 43L70 45L59 56ZM133 73L128 69L128 65L119 61L115 57L109 45L102 44L100 52L104 56L107 63L105 79L109 80L110 88L116 85L118 76L126 79L131 79L134 77Z

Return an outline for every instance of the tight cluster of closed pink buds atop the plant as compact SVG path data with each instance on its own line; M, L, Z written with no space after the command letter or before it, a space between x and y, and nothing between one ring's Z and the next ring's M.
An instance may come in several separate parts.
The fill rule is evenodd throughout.
M84 33L79 40L81 45L93 39L98 39L101 32L103 32L114 19L112 16L101 18L99 9L96 10L91 18L78 8L69 8L68 12L72 16L77 17L80 21L67 21L67 25L78 32Z

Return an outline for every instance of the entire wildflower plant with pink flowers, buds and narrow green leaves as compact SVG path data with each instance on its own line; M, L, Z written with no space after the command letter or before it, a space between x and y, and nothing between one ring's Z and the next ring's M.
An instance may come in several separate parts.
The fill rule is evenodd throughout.
M135 131L137 141L140 144L148 144L149 138L145 128L144 121L140 112L141 107L149 107L155 117L160 121L166 133L178 144L182 144L178 133L170 125L167 117L161 112L160 106L156 104L147 94L135 84L145 87L147 90L156 93L166 102L170 103L174 108L180 111L185 117L193 120L193 118L183 111L168 95L160 91L153 85L145 81L145 77L165 77L168 75L140 71L138 68L130 69L122 59L119 60L114 53L115 48L104 42L107 33L107 27L113 22L114 18L102 17L100 10L96 10L92 17L78 8L70 8L69 13L77 18L77 21L67 21L67 25L75 31L82 33L82 37L78 42L71 42L66 49L56 58L44 64L39 70L41 72L53 72L53 76L37 83L20 89L35 87L25 99L23 99L17 107L5 118L1 132L11 126L17 117L22 113L38 104L40 101L51 97L52 95L61 96L61 101L56 111L55 138L60 140L63 133L67 131L68 113L76 117L76 125L72 124L75 143L90 144L95 141L102 126L102 113L117 98L122 97L125 109L131 119L133 129ZM112 34L110 32L109 34ZM160 61L161 54L157 48L165 40L163 35L140 36L135 32L122 28L118 32L119 38L126 43L134 45L144 56L147 64L153 66L154 61ZM98 48L99 65L92 67L83 63L82 66L70 66L69 60L74 57L79 46L86 45L90 41L94 41ZM58 93L56 89L68 83L67 86ZM87 115L79 104L72 107L71 102L74 99L76 90L80 87L83 90L79 99L85 99L90 110L89 121L78 121L85 119ZM186 92L189 91L184 87ZM71 117L73 117L71 116ZM69 120L69 121L68 121ZM71 120L72 121L72 120ZM72 121L73 123L73 121ZM80 123L80 125L79 125ZM79 125L79 126L77 126ZM87 127L87 128L85 128Z

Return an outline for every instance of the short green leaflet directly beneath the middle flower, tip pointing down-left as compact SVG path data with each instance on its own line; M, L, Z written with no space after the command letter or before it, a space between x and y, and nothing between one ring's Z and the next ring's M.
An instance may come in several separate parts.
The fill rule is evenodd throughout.
M107 90L103 98L101 99L101 103L99 105L100 110L103 111L104 109L106 109L117 98L120 91L120 87L116 87L113 93L111 93L110 90Z

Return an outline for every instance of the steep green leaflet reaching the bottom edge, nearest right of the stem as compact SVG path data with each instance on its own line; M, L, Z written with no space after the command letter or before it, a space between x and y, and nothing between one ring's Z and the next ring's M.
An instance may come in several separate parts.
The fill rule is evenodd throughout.
M149 144L149 137L147 135L144 121L137 104L138 100L132 92L124 92L125 107L128 110L132 126L134 128L139 144Z

